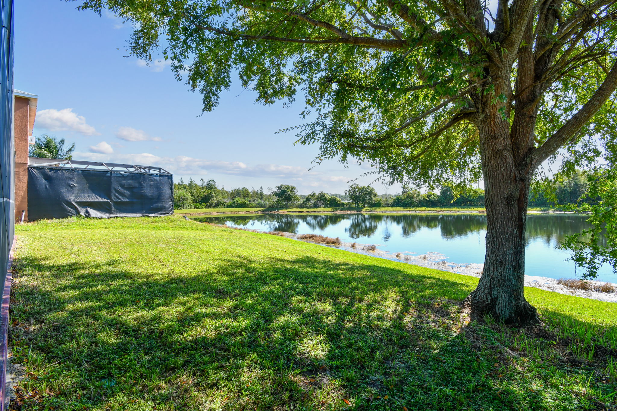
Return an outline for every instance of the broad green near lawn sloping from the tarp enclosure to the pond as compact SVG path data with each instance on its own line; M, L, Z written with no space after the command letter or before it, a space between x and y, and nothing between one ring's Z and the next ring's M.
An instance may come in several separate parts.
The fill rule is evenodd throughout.
M528 288L546 327L468 324L473 277L178 216L17 237L23 410L617 406L614 303Z

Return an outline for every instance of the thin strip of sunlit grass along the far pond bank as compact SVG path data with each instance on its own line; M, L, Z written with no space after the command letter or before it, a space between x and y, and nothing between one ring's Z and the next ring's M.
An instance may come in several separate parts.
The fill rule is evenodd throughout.
M547 207L529 207L529 211L550 211ZM325 208L194 208L191 210L174 210L175 214L190 213L247 213L259 211L319 211L331 213L333 211L484 211L484 207L325 207Z

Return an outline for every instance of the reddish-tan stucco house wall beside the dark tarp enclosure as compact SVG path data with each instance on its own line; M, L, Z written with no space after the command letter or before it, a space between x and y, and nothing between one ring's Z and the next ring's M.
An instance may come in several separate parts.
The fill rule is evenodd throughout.
M13 122L15 135L15 219L28 221L28 131L30 122L30 100L15 96L15 118Z

